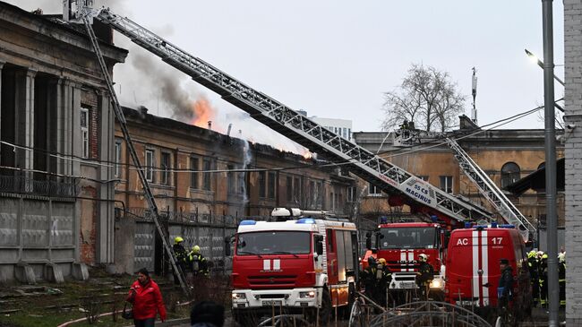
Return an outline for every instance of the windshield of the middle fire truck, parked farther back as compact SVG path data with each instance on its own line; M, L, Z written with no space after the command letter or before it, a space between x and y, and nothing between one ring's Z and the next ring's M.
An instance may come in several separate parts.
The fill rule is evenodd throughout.
M435 228L381 228L381 249L436 248Z

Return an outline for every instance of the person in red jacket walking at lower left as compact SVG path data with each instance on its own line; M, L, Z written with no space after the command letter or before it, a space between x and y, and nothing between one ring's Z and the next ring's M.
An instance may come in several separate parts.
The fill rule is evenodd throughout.
M153 327L158 313L162 322L166 320L166 306L158 284L150 279L150 272L141 268L137 275L126 299L133 304L133 324L135 327Z

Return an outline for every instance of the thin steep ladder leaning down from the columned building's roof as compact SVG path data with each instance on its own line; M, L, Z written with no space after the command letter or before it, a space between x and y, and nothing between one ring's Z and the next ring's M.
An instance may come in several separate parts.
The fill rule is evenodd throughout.
M107 90L109 91L109 94L111 95L111 103L113 104L113 108L114 108L114 112L116 114L117 121L119 122L119 126L121 127L121 130L124 133L124 139L125 139L125 143L127 145L127 150L129 151L130 155L132 156L133 164L137 168L136 170L137 170L138 176L140 176L141 185L143 186L143 192L145 194L145 198L148 200L148 206L150 207L150 211L152 213L152 219L153 219L154 223L156 224L156 228L158 228L158 233L159 233L159 236L160 236L162 243L164 245L164 249L166 250L168 257L170 258L169 261L172 264L172 269L175 272L177 272L175 275L178 277L178 280L180 281L180 286L184 290L184 294L186 296L189 296L190 289L186 286L186 282L185 282L185 278L184 278L184 271L179 269L178 265L176 264L174 251L173 251L172 247L167 243L166 237L164 236L164 233L162 231L162 227L159 224L158 206L156 205L156 201L154 199L154 194L151 192L150 184L148 183L148 180L145 177L145 173L143 171L143 168L141 167L140 159L137 155L137 152L135 151L135 148L133 147L132 138L131 138L130 133L127 129L127 124L125 121L124 112L121 109L121 106L119 105L119 100L117 99L116 91L113 89L113 81L111 80L111 76L109 75L109 72L107 71L107 65L105 64L105 60L103 59L103 53L101 52L101 48L98 45L98 39L95 36L95 32L93 31L93 28L91 27L90 17L88 15L83 15L82 22L85 25L87 33L89 34L89 37L90 37L91 44L95 50L95 54L97 55L99 67L101 68L101 73L103 73L103 78L105 79L105 82L107 84Z

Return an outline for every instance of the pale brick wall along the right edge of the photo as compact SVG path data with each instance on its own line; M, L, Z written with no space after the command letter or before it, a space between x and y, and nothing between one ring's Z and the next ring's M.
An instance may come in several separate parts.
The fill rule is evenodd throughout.
M566 321L582 325L582 0L564 0L566 140ZM568 132L567 132L568 133Z

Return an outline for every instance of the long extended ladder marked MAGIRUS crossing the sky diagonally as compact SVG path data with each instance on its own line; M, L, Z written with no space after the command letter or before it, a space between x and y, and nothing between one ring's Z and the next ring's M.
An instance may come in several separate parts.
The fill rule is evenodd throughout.
M88 11L91 10L90 8ZM404 201L420 211L445 219L489 218L491 213L471 202L429 185L406 170L374 155L371 151L341 138L321 125L288 108L276 99L253 90L243 82L201 59L186 53L141 25L113 13L108 8L93 11L98 21L124 34L135 44L159 56L167 64L188 74L194 81L217 92L223 99L248 112L254 119L311 151L346 162L356 175L372 182L390 195L404 195ZM415 191L418 187L418 192Z

